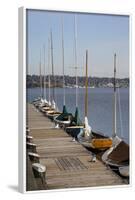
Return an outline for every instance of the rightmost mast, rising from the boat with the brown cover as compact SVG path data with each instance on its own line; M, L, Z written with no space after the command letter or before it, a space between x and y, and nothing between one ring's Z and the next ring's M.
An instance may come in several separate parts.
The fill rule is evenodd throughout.
M114 108L113 108L113 135L116 136L116 53L114 54Z

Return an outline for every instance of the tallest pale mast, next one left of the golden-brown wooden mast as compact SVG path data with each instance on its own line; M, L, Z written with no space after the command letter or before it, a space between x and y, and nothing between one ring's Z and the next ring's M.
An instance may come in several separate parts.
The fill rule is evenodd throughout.
M78 107L78 77L77 77L77 16L74 18L74 40L75 40L75 76L76 76L76 108Z

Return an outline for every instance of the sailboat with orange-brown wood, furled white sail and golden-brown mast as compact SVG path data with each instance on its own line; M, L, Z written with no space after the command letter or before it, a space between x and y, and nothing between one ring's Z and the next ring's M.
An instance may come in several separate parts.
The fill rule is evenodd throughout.
M88 50L86 50L86 79L85 79L85 119L84 127L77 135L78 141L88 149L105 150L112 146L112 139L92 131L88 123Z

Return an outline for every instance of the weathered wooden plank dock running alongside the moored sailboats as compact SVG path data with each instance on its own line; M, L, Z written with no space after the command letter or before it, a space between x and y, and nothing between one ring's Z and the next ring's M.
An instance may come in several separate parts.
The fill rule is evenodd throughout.
M47 189L125 184L121 177L101 161L90 162L92 153L77 141L73 142L64 130L55 129L54 123L37 111L32 104L28 104L27 108L30 135L33 136L33 143L37 145L40 163L47 169ZM30 165L30 162L28 163ZM31 179L31 176L27 176L27 182L31 183L33 180L28 179ZM41 183L37 186L37 189L39 188L46 189Z

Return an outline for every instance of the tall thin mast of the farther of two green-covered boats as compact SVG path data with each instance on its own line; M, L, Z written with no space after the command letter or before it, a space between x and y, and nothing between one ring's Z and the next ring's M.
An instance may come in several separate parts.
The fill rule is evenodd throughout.
M63 18L61 20L61 27L62 27L62 66L63 66L63 105L65 106L65 66L64 66L64 36L63 36Z

